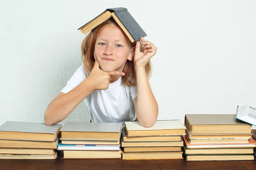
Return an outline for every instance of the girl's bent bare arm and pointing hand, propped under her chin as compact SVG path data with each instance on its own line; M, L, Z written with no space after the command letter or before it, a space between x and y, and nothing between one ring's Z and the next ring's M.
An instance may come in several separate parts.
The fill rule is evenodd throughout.
M98 60L96 60L89 77L68 93L58 94L50 102L44 113L45 124L54 125L61 122L94 90L107 89L111 81L111 75L124 76L124 73L120 71L102 71L99 68Z

